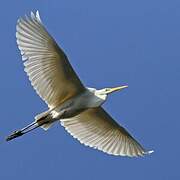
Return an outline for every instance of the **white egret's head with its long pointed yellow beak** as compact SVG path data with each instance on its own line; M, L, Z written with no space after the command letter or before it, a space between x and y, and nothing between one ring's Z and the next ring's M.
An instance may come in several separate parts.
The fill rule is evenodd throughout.
M100 90L97 90L95 92L95 95L102 98L102 99L106 99L107 95L116 91L121 91L122 89L127 88L128 86L118 86L118 87L114 87L114 88L103 88Z

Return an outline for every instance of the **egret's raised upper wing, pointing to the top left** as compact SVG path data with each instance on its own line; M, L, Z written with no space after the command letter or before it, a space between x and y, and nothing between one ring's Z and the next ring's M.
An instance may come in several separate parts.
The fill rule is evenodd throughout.
M38 11L20 18L16 29L25 71L50 108L84 91L66 55L43 26Z

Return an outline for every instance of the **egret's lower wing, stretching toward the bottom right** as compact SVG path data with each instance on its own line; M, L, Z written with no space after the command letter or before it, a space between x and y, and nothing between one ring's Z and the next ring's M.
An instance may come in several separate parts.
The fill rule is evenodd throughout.
M143 156L146 151L102 107L88 109L76 117L62 119L62 126L81 143L112 155Z

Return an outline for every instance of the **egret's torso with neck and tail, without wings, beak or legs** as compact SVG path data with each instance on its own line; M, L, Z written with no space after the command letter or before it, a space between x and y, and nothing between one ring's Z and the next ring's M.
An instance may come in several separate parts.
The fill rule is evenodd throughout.
M42 121L48 121L48 125L42 125L42 128L47 130L51 127L52 123L58 120L72 118L89 108L101 106L107 98L107 95L103 93L105 91L106 89L97 90L95 88L87 87L81 94L66 100L52 110L50 109L47 112L37 115L36 121L39 121L39 119L42 120L42 117L44 117Z

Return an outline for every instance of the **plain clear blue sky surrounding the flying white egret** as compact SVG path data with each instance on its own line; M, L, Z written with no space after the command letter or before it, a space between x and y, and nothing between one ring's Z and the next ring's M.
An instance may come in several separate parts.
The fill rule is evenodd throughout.
M17 19L31 10L39 10L85 85L129 85L104 107L153 154L110 156L81 145L58 123L4 141L47 109L15 39ZM0 20L0 179L180 179L180 1L2 0Z

